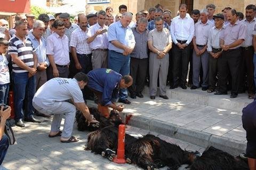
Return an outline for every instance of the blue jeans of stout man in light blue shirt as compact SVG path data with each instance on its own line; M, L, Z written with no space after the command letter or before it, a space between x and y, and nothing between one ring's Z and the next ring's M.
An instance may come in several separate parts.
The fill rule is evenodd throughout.
M121 74L122 76L130 74L130 55L123 55L115 51L108 51L108 68ZM127 89L119 91L119 100L127 99Z

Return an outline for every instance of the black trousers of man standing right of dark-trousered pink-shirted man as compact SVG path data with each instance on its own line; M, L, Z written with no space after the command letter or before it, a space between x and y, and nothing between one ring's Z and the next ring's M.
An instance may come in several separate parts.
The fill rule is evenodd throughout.
M242 66L239 69L239 91L245 90L245 85L247 84L247 90L249 94L254 94L254 84L253 84L253 46L242 47ZM246 84L245 84L246 82Z

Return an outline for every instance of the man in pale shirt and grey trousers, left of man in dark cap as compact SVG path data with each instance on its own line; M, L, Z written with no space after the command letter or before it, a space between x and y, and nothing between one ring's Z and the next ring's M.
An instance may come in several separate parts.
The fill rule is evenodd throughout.
M201 64L203 67L203 83L202 90L206 91L208 88L208 61L209 53L206 51L209 30L213 24L207 19L208 11L203 9L200 11L200 20L195 24L195 35L193 38L193 86L191 90L199 88L199 74Z

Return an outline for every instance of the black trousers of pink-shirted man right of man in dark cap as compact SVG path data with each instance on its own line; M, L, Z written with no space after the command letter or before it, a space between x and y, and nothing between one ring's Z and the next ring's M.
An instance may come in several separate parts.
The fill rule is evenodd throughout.
M238 71L241 66L241 48L223 51L218 59L219 85L221 92L227 92L228 73L231 75L231 94L238 93Z

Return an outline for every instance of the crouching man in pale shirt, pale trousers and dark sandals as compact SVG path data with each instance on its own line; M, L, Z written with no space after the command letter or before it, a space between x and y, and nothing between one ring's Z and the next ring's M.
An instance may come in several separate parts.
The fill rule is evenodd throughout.
M57 20L58 21L58 20ZM74 78L53 78L41 86L33 98L33 106L46 115L54 114L49 137L60 137L60 142L77 142L72 136L76 108L82 112L88 123L98 123L93 119L83 100L81 89L88 82L88 77L78 72ZM67 102L70 100L70 102ZM64 116L65 115L65 116ZM62 117L65 118L63 131L60 131Z

